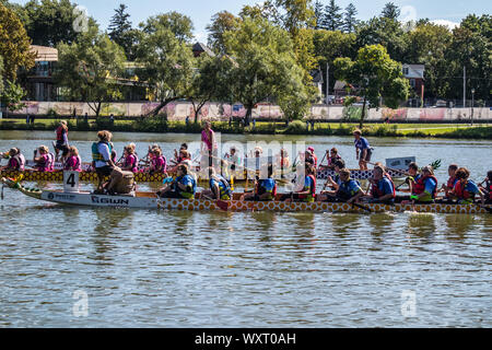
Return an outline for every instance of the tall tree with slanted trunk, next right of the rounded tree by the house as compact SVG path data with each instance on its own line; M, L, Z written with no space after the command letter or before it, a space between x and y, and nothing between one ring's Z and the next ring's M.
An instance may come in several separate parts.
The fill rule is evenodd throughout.
M154 116L169 102L186 98L192 72L194 56L190 48L192 23L177 12L159 14L141 23L141 38L137 61L144 66L139 73L155 92L160 105Z

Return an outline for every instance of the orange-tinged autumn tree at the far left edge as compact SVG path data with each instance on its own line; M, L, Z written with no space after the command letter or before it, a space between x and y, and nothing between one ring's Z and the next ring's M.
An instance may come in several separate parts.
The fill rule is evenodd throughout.
M34 67L35 54L30 51L31 40L19 16L0 4L0 55L3 57L4 79L15 81L17 69Z

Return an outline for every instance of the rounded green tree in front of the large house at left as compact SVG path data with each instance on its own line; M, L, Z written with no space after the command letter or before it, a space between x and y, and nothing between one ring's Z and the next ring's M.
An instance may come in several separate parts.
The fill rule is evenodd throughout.
M104 102L118 100L125 67L125 52L97 27L90 27L72 44L58 45L58 65L55 80L68 88L68 97L83 101L99 116Z

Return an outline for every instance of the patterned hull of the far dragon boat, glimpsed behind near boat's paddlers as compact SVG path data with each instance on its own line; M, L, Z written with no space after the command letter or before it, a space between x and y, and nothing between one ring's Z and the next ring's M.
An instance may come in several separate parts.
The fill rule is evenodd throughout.
M38 172L34 170L25 170L23 172L13 172L13 171L2 171L0 172L0 176L19 178L23 175L24 180L27 182L61 182L63 180L63 172L55 171L55 172ZM328 176L335 177L335 172L329 170L321 170L317 174L318 179L326 179ZM397 178L401 176L401 173L389 171L389 175L391 177ZM137 183L162 183L165 178L165 174L149 174L149 173L134 173L134 180ZM351 170L351 177L354 179L367 179L373 177L372 171L360 171L360 170ZM96 182L97 175L94 172L81 172L80 180L82 182ZM199 179L206 180L206 179ZM244 182L245 179L235 178L235 183Z

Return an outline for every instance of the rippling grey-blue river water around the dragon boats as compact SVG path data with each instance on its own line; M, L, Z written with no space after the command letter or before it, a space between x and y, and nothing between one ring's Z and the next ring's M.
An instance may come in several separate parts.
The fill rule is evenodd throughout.
M52 132L0 131L0 151ZM336 145L353 140L222 136ZM94 132L70 132L89 161ZM116 133L118 151L199 135ZM492 168L492 141L370 139L374 160ZM4 161L3 161L4 164ZM33 184L59 188L60 184ZM84 184L84 187L92 187ZM142 184L140 188L157 185ZM0 202L2 327L491 327L492 215L187 212Z

